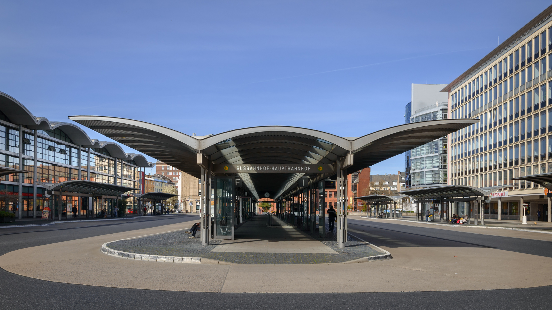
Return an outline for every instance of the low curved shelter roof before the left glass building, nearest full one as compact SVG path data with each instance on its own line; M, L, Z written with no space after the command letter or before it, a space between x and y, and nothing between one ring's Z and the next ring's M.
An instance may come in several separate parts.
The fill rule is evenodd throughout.
M128 191L138 190L136 188L129 188L121 185L99 183L88 180L70 180L53 184L38 181L38 183L40 185L43 185L47 190L62 191L63 193L120 196L121 194L124 194Z

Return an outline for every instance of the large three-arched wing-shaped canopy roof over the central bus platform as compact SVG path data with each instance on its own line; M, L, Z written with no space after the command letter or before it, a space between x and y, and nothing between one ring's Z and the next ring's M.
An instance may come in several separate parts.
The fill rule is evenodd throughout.
M354 172L379 163L478 120L449 119L416 122L362 137L339 137L318 130L260 126L209 136L188 136L167 127L109 116L69 116L73 121L132 147L194 177L200 177L197 153L214 164L333 164L354 154ZM278 197L304 174L238 173L251 193ZM310 176L310 175L307 175Z

